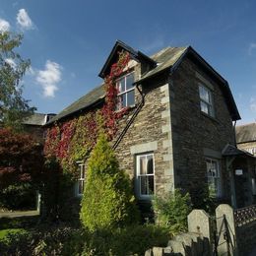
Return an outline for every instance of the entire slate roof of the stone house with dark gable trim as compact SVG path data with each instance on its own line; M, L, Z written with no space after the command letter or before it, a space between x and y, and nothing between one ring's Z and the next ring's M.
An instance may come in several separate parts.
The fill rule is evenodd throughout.
M223 83L222 90L224 92L224 96L226 99L226 104L229 109L230 115L232 117L232 120L238 120L240 119L239 112L237 110L237 107L235 105L234 99L231 95L230 89L228 87L227 82L219 75L196 51L191 47L166 47L162 50L160 50L158 53L154 54L151 57L147 57L146 55L141 53L140 51L135 51L130 46L124 44L121 41L117 41L115 46L113 47L109 57L107 58L102 70L99 73L99 76L102 77L106 70L109 68L108 66L111 63L111 56L115 58L114 55L115 50L119 50L118 47L124 47L126 50L130 52L130 54L135 56L135 59L137 58L143 58L144 60L149 61L151 64L156 63L156 66L144 74L140 80L136 81L135 84L142 83L146 81L147 79L150 79L154 77L155 75L159 75L161 72L164 72L165 70L174 70L175 67L182 61L183 56L185 56L188 52L190 54L193 54L196 56L198 62L203 65L205 65L208 68L208 71L210 73L213 73L216 77L220 79L220 81ZM58 121L60 119L66 118L72 114L76 114L79 111L92 107L92 105L96 104L96 102L102 100L104 97L104 89L103 85L97 87L93 91L91 91L86 96L80 97L77 101L66 107L64 110L62 110L59 114L57 114L55 117L53 117L46 125L51 124L55 121Z

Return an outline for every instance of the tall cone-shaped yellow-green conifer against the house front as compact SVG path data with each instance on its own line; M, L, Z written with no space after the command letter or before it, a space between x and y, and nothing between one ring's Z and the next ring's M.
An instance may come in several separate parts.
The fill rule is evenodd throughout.
M131 180L119 169L103 133L89 160L80 219L92 231L138 221Z

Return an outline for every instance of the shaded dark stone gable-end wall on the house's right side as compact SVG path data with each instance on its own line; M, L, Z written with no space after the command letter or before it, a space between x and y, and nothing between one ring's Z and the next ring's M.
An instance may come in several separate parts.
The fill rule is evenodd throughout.
M215 117L200 109L199 82L211 89ZM222 151L234 144L230 114L220 86L189 59L169 79L175 186L197 190L206 182L206 157L221 160L224 198L229 198Z

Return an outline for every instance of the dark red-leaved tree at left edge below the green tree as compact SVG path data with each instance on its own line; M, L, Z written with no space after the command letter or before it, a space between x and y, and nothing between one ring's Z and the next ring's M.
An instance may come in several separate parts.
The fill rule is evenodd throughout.
M43 166L41 151L42 146L32 136L0 129L0 204L25 199L25 194L29 196L38 188Z

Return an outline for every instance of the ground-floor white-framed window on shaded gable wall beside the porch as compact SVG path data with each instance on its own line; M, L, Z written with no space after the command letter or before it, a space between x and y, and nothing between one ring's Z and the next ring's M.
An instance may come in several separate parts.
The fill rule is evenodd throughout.
M220 170L220 161L215 159L206 159L208 187L211 196L222 196L222 179Z

